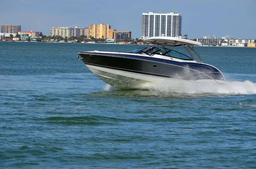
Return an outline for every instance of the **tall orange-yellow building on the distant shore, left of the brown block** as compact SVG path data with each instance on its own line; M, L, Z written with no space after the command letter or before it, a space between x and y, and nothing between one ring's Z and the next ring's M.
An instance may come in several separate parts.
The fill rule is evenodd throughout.
M90 25L90 36L95 38L102 38L102 36L108 38L109 35L113 36L113 34L109 34L110 29L110 25L103 25L103 23L100 23L99 25Z

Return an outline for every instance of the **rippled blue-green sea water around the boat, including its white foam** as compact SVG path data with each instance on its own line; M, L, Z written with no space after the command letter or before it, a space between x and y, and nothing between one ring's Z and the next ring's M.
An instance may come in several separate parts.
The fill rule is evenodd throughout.
M0 168L256 168L256 48L195 47L230 83L146 90L77 57L139 47L0 42Z

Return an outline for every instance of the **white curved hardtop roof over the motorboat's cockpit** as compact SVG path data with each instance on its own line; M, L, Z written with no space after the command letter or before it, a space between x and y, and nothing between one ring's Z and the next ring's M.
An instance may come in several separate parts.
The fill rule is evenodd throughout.
M196 42L193 40L183 39L179 37L165 37L165 36L157 36L157 37L149 37L144 40L145 42L163 45L163 46L180 46L183 45L191 45L191 46L200 46L200 42Z

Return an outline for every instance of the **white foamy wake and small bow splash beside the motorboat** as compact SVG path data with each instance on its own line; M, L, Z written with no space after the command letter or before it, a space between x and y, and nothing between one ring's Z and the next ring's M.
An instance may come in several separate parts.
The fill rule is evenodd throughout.
M223 84L218 83L198 83L195 81L175 82L163 81L162 83L144 83L141 89L166 93L184 94L212 94L212 95L253 95L256 94L256 83L249 80L242 82L232 81ZM110 85L105 86L105 90L119 90Z

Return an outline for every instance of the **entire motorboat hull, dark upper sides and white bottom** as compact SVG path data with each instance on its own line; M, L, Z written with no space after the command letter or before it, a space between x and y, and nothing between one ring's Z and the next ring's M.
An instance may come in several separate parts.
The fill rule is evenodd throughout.
M86 66L105 83L119 89L141 89L145 83L163 80L223 81L213 66L182 63L131 54L79 53Z

